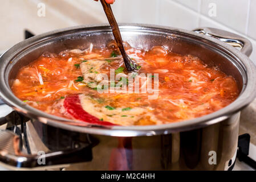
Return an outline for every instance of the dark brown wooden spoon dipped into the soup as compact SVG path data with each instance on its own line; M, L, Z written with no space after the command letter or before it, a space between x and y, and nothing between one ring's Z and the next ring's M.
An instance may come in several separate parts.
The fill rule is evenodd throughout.
M137 65L135 63L133 63L133 61L129 58L129 56L125 52L123 40L122 40L122 37L120 34L120 30L119 30L118 24L116 22L115 16L113 15L111 6L108 3L106 3L105 0L100 0L100 2L103 6L105 14L107 15L108 22L112 28L112 32L115 37L117 46L119 47L121 55L123 56L125 67L127 68L127 70L129 72L135 71L137 69Z

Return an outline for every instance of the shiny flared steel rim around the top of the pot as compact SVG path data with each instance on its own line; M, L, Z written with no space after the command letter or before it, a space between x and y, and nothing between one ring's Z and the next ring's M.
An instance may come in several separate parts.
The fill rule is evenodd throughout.
M237 59L239 59L243 65L243 69L245 69L247 82L245 86L243 86L243 90L237 100L232 102L230 105L218 110L214 113L204 115L199 118L189 119L182 122L169 123L164 125L149 125L149 126L113 126L113 127L105 127L105 126L95 126L95 125L87 125L86 123L74 122L72 119L65 119L61 117L57 117L55 115L46 114L43 111L37 110L22 101L20 101L14 94L11 92L9 85L6 84L5 78L5 64L7 65L12 57L16 56L17 53L21 53L22 49L26 49L27 46L31 46L31 44L43 42L46 38L56 38L58 35L63 34L64 32L83 30L86 31L90 28L101 28L102 30L111 30L108 24L93 24L87 26L76 26L63 28L60 30L55 30L51 32L47 32L45 34L34 36L30 39L24 40L21 43L16 44L14 47L10 48L8 51L3 53L0 57L0 97L6 104L13 107L14 110L17 110L23 114L26 114L32 119L36 119L40 122L43 122L47 125L51 125L54 127L59 127L66 130L77 131L80 133L88 133L88 134L97 134L97 135L110 135L115 137L136 137L136 136L151 136L151 135L160 135L160 134L169 134L176 133L180 131L188 131L193 129L198 129L201 127L206 127L209 125L213 125L214 123L218 123L224 121L225 119L231 117L231 115L238 113L243 107L247 106L254 100L256 97L256 67L253 62L235 49L234 47L229 46L220 40L214 39L212 37L198 34L193 31L183 30L180 28L173 28L168 26L155 26L151 24L135 24L135 23L120 23L120 30L147 30L147 28L152 28L153 30L162 30L169 31L169 34L173 34L172 31L193 35L199 37L204 40L208 40L224 48L226 51L232 53ZM8 63L7 63L8 62ZM3 64L5 63L5 64Z

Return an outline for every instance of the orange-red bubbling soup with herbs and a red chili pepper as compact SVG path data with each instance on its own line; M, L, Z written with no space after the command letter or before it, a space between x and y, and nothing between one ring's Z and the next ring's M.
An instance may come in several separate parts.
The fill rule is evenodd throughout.
M127 53L137 72L128 74L115 46L44 53L19 70L12 90L48 114L122 126L181 122L220 110L238 97L233 77L197 57L162 47L127 47Z

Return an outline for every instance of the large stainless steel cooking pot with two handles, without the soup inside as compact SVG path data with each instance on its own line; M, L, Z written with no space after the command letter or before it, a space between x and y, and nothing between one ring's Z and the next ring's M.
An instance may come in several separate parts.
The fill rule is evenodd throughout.
M90 43L104 47L113 39L111 28L105 25L82 26L35 36L1 56L0 97L14 110L32 119L26 126L30 133L34 131L32 136L38 138L37 143L41 143L38 150L43 148L48 152L45 165L86 162L77 164L77 169L88 170L230 169L237 151L240 110L256 96L256 68L247 57L252 51L249 40L215 28L185 31L121 24L120 30L124 41L132 47L150 49L161 45L181 55L190 54L209 65L217 65L235 78L241 92L239 97L215 113L160 126L99 127L55 117L14 96L10 85L18 69L46 51L59 53L65 49L85 49ZM36 162L37 155L21 153L17 136L6 131L1 135L9 137L0 138L0 161L16 167L40 167ZM63 144L62 137L70 142ZM9 147L4 147L6 142ZM75 160L74 156L80 158Z

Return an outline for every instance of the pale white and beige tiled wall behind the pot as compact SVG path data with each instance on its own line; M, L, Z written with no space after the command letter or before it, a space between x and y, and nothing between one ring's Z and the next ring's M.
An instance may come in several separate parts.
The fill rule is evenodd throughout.
M47 16L36 16L39 2ZM216 16L209 16L210 3ZM118 22L149 23L192 30L209 26L246 36L253 43L256 64L256 0L116 0ZM23 29L36 34L79 24L107 22L100 2L92 0L2 0L0 52L23 39ZM4 17L4 18L3 18Z

